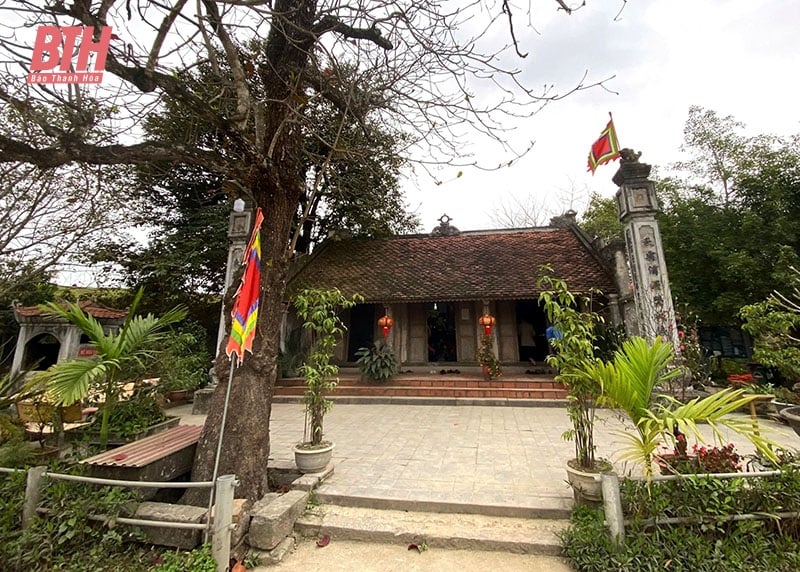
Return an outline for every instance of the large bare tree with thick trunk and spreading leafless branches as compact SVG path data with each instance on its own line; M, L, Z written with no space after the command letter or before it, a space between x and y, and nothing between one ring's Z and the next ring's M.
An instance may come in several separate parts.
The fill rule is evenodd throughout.
M266 214L258 333L253 356L232 385L220 462L221 471L239 477L239 494L248 498L266 489L278 325L306 192L303 141L309 133L326 137L309 120L309 103L325 99L349 120L381 121L406 142L405 153L417 164L466 165L475 163L464 155L467 139L485 137L513 158L518 151L506 136L506 120L518 124L589 87L534 91L520 70L504 67L515 52L522 56L507 0L55 0L46 7L20 0L14 6L13 17L2 20L0 60L9 63L0 101L47 143L0 136L0 161L197 165L237 182ZM563 1L556 7L571 12ZM86 91L24 83L33 29L42 24L91 26L98 37L102 26L113 26L117 39L105 67L112 78L91 98ZM241 47L254 38L263 39L258 53L246 57ZM201 65L212 71L208 81L196 81ZM151 139L136 130L150 110L176 102L189 110L182 139ZM51 125L39 111L46 105L58 105L68 125ZM86 133L101 123L109 137L87 142ZM213 137L197 137L195 123L212 126ZM340 152L335 134L325 143L330 157ZM225 362L218 360L221 380ZM212 472L223 395L217 391L212 400L196 479Z

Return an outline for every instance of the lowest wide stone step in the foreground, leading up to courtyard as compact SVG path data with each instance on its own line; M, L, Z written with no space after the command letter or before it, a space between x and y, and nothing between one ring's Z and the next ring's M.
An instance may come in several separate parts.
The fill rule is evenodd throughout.
M378 510L323 504L307 511L295 531L331 540L417 544L427 548L557 555L566 519Z

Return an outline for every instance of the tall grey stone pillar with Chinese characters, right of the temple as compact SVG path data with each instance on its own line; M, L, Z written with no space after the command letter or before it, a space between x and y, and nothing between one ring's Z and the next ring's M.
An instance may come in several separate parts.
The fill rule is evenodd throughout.
M675 310L656 222L658 200L655 183L648 179L651 167L639 162L641 153L623 149L620 154L620 167L612 180L619 186L617 209L619 220L625 226L638 333L648 340L661 336L672 343L677 352Z

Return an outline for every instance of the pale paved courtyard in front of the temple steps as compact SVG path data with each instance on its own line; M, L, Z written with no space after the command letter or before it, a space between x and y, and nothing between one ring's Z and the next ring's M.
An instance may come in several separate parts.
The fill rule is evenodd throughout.
M173 412L184 422L202 422L188 415L190 409ZM614 431L622 424L609 411L598 415L597 454L615 460L622 441ZM274 461L293 463L303 417L302 405L273 405ZM759 424L765 436L800 448L790 428L764 419ZM555 407L337 404L325 417L325 437L336 443L335 473L319 492L521 508L541 506L545 498L568 505L564 465L574 452L561 434L569 427L566 411ZM726 433L728 441L742 454L753 452L746 439ZM620 463L617 469L636 470Z

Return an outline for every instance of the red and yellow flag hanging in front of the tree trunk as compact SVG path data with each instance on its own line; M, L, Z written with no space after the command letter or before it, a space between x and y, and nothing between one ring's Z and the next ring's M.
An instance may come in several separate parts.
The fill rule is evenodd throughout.
M253 353L253 338L256 335L256 321L258 320L258 302L261 295L261 223L264 215L261 209L256 209L255 224L250 242L244 251L242 264L244 274L242 283L236 292L231 311L231 337L225 347L228 357L236 354L239 363L244 359L244 352Z

